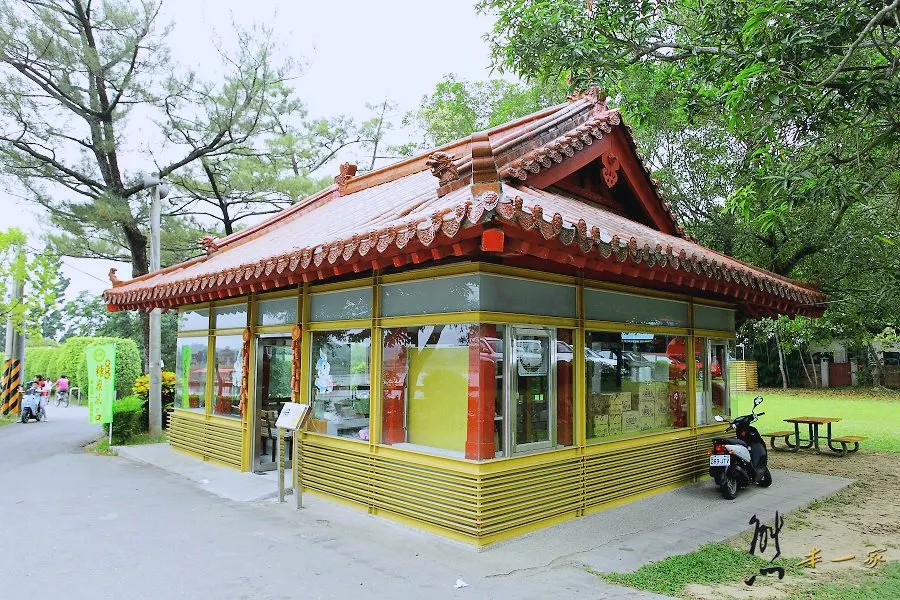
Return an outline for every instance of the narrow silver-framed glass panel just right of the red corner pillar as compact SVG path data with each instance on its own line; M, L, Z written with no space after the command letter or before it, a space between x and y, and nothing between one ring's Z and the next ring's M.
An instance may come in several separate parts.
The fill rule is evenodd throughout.
M512 328L507 366L514 452L551 448L555 435L553 334L550 329Z

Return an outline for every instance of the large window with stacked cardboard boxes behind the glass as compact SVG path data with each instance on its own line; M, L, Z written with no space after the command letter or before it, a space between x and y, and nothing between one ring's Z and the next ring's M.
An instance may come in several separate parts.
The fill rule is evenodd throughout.
M687 426L685 340L653 333L587 333L589 442Z

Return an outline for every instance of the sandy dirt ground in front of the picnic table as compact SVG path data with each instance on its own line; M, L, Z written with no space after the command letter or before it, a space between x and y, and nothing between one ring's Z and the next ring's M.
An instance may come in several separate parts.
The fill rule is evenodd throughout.
M865 570L866 553L884 550L886 560L900 560L900 455L861 451L848 457L771 452L769 464L777 469L806 471L824 475L849 477L855 482L807 508L789 513L779 541L785 557L806 557L813 547L821 551L822 562L803 576L758 578L754 586L728 584L691 585L687 594L698 600L728 598L782 598L800 583L831 581L845 569ZM778 481L775 485L789 485ZM749 534L732 540L735 548L749 548ZM851 560L835 559L854 556ZM877 567L876 567L877 568ZM801 581L802 580L802 581Z

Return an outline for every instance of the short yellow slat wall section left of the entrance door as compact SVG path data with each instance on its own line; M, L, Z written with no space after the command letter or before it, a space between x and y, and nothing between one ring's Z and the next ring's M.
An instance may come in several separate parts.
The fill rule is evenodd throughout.
M173 448L235 469L241 468L240 421L235 420L232 425L209 421L204 415L174 411L169 417L168 436Z

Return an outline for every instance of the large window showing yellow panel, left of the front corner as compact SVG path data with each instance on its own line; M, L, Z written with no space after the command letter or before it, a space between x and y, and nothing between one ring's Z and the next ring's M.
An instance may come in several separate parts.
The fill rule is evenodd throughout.
M423 325L384 330L382 442L462 458L468 441L469 368L490 362L490 383L502 357L468 324ZM502 358L501 358L502 360ZM478 390L473 390L473 392ZM502 390L500 394L502 403ZM496 405L490 406L492 445ZM477 437L477 436L476 436ZM488 452L489 456L493 454Z

